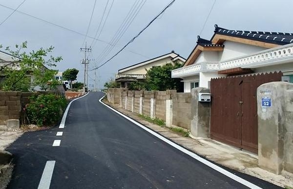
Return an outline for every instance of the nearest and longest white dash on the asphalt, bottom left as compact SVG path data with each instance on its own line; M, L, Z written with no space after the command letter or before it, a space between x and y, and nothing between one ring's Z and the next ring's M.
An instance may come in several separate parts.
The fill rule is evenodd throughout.
M49 189L56 161L47 161L38 189Z

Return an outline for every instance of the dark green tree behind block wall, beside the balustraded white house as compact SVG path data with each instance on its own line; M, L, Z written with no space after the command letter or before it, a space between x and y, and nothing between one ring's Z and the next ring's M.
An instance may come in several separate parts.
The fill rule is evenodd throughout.
M166 91L170 89L179 90L182 85L180 78L171 78L171 71L182 65L175 61L174 65L167 63L164 66L154 66L146 72L146 89Z

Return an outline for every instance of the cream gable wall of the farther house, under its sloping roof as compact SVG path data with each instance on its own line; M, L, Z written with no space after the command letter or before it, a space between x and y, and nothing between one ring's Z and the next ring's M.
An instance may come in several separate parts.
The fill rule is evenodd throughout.
M146 70L150 69L153 66L163 66L167 63L172 63L171 57L167 57L137 68L133 68L131 70L127 70L125 72L119 72L119 74L146 74Z

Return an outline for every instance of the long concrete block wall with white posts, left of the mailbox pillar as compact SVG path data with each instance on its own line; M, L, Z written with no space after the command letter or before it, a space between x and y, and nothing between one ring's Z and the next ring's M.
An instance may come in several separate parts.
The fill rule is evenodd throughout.
M167 91L127 91L126 88L109 89L107 100L119 104L126 110L141 113L151 118L160 118L171 125L190 130L191 94ZM173 106L167 107L167 100L173 101ZM167 113L171 109L173 115ZM170 125L170 126L171 126Z

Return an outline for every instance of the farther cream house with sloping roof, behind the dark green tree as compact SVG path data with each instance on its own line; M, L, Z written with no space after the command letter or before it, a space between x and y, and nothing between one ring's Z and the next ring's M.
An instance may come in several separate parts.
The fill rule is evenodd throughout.
M186 59L172 51L171 53L118 70L118 74L116 74L116 82L119 82L121 87L127 88L127 85L132 81L146 79L146 70L151 67L163 66L167 63L173 63L174 61L179 61L181 64L184 64Z

